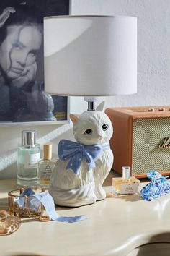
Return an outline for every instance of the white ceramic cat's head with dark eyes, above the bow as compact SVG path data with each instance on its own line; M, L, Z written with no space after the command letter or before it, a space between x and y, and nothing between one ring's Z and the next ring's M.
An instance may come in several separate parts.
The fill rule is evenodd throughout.
M112 123L103 109L101 111L100 105L96 111L85 111L80 116L70 115L77 142L84 145L102 144L112 137Z

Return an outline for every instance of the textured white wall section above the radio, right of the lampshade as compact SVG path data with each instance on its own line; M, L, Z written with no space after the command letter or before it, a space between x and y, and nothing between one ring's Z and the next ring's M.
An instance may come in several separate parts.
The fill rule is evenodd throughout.
M107 106L169 104L169 0L73 0L72 14L130 15L138 18L138 93L110 97Z

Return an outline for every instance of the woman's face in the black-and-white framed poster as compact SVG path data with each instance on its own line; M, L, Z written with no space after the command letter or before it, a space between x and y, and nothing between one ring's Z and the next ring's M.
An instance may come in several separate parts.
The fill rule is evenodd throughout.
M0 64L9 80L28 74L35 77L36 56L42 34L35 26L11 26L0 46Z

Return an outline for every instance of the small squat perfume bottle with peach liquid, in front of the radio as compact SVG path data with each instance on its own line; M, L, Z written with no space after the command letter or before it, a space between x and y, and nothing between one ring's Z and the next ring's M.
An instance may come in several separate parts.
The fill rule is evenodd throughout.
M130 176L130 166L122 166L122 177L112 178L112 193L126 195L138 193L140 181Z

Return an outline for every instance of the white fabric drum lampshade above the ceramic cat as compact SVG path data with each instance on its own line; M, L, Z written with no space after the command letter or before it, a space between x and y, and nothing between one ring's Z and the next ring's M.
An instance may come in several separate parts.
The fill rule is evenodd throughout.
M137 88L137 19L44 19L45 91L55 95L125 95Z

